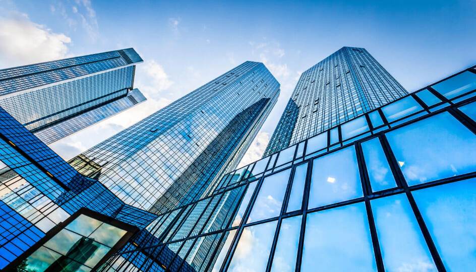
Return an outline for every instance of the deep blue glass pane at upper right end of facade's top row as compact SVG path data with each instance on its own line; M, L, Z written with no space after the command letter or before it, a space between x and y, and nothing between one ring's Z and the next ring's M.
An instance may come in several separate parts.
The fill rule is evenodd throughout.
M446 98L451 99L476 89L476 74L466 71L432 87Z

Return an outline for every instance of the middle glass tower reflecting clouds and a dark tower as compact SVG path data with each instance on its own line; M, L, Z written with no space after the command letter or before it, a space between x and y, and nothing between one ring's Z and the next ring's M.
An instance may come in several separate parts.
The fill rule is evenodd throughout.
M266 67L247 61L70 162L100 169L93 175L134 207L171 209L236 167L278 95Z

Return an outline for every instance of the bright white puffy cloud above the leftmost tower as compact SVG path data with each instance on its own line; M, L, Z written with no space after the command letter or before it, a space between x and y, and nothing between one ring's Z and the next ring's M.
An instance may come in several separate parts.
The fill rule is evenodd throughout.
M71 38L30 21L26 14L0 18L0 66L13 67L61 59Z

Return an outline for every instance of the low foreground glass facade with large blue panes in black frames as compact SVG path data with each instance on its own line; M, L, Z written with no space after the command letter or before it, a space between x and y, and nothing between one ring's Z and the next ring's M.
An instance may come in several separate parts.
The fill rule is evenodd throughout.
M225 175L102 271L471 271L470 67Z

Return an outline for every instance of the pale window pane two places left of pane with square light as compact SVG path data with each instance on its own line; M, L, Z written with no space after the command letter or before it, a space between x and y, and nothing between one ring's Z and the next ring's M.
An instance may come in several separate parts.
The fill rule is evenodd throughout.
M248 223L279 216L290 173L287 169L263 180Z

